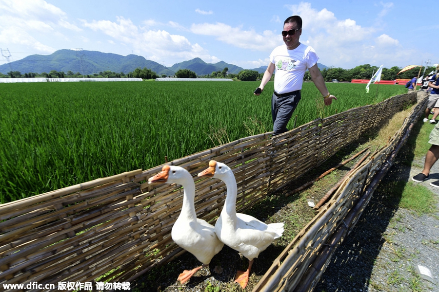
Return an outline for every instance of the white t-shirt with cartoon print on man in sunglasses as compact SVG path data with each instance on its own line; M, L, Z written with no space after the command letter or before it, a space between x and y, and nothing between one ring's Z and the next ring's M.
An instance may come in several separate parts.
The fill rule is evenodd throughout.
M274 90L278 93L301 90L306 70L318 60L314 49L302 43L294 50L288 50L285 45L276 47L270 54L270 62L276 68Z

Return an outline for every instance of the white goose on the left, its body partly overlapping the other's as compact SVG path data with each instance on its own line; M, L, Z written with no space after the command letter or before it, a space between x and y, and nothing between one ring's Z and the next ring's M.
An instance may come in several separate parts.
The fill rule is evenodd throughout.
M192 275L210 263L224 243L218 239L213 225L197 218L194 206L195 183L186 169L164 165L159 174L148 179L148 183L178 183L183 186L183 205L180 216L172 227L171 237L181 248L203 263L202 266L190 271L184 270L179 275L178 280L184 284Z

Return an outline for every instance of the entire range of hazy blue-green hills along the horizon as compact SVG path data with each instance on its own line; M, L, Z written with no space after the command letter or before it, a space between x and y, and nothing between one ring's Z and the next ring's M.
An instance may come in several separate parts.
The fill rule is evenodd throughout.
M320 70L328 68L317 63ZM0 66L0 72L7 74L10 71L19 71L24 73L50 73L55 70L58 72L81 73L92 75L104 71L115 73L130 73L136 68L148 68L158 75L172 76L180 69L191 70L197 75L207 75L212 72L218 72L228 68L229 73L238 74L244 70L239 66L227 64L220 61L216 64L209 64L200 58L194 58L189 61L183 61L167 68L157 62L147 60L139 55L117 55L111 53L101 53L97 51L75 51L75 50L58 50L51 55L29 55L21 60L3 64ZM261 66L256 69L250 69L259 73L264 73L267 66Z

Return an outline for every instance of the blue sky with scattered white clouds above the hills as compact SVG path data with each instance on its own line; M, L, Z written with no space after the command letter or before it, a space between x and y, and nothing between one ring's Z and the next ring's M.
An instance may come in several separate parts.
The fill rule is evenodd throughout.
M170 67L200 57L244 69L268 64L285 18L326 66L439 63L439 1L0 0L0 65L83 49L141 55ZM6 51L8 50L8 51Z

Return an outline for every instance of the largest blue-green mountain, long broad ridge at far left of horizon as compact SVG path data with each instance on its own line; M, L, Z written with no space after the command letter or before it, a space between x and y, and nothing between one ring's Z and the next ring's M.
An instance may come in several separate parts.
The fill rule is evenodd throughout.
M29 55L21 60L0 66L0 72L6 74L12 71L20 73L49 73L52 70L67 73L81 73L90 75L94 73L111 71L116 73L133 72L136 68L148 68L152 71L166 75L174 72L157 62L145 59L138 55L116 55L97 51L59 50L51 55Z

